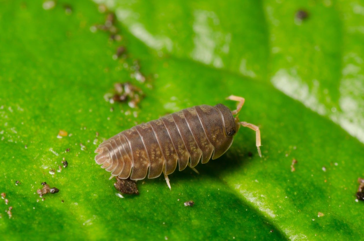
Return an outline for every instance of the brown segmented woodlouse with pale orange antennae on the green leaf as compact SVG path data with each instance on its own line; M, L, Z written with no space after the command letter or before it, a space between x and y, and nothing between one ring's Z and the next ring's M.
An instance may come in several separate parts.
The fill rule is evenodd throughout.
M98 146L95 161L111 172L110 179L141 180L148 169L148 178L163 173L171 189L168 175L174 172L177 162L180 171L189 166L197 172L194 167L200 160L207 163L229 149L240 126L256 131L261 157L259 128L237 117L245 99L234 95L226 99L238 102L236 110L230 111L223 104L200 105L124 130Z

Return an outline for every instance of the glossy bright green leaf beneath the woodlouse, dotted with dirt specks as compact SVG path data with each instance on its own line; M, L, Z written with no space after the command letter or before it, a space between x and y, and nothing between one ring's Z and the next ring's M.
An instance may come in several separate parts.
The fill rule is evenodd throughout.
M107 2L121 42L90 31L105 19L91 1L48 10L39 1L1 4L4 240L364 236L364 205L355 201L364 176L359 2ZM295 19L298 9L308 18ZM126 58L114 60L120 45ZM136 61L145 83L135 79ZM105 101L127 81L145 93L138 108ZM94 161L104 139L194 105L234 109L231 94L246 99L239 118L260 127L262 158L254 132L242 127L226 154L197 166L199 175L169 175L171 190L159 177L138 181L138 196L115 195L110 173ZM68 166L57 172L63 158ZM60 191L42 201L44 181ZM193 207L183 205L189 200Z

